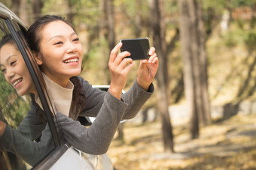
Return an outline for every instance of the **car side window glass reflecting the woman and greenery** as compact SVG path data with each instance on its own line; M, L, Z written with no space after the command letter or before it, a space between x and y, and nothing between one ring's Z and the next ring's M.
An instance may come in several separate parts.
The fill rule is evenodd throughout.
M7 124L0 136L0 169L31 169L56 148L56 136L52 136L44 112L35 107L35 95L19 91L29 82L23 58L29 59L30 55L24 28L22 31L17 25L11 19L0 18L0 121ZM35 88L31 77L30 81L27 88Z

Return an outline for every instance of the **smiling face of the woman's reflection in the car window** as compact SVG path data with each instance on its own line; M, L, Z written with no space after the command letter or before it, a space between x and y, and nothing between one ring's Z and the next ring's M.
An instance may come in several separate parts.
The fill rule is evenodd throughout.
M34 93L35 86L20 51L14 44L6 43L0 49L0 66L5 79L21 96Z

